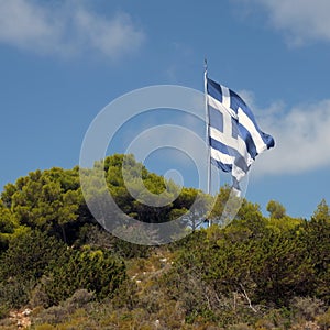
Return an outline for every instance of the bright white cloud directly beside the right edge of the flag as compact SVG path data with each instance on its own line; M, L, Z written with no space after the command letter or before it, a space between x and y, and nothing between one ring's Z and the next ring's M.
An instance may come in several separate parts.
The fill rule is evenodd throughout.
M252 165L254 175L330 167L330 99L289 110L278 103L266 112L257 120L262 130L274 136L276 145L256 158Z

